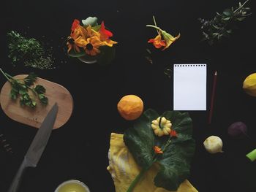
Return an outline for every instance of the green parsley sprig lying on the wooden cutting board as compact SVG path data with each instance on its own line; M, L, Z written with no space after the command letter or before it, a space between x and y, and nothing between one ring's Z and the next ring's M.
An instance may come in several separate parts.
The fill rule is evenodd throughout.
M10 74L5 73L1 68L0 72L4 74L4 77L12 85L10 91L10 98L16 100L20 96L20 105L28 106L34 108L37 106L37 101L35 100L38 97L41 104L48 104L48 98L45 96L45 88L42 85L34 85L34 82L37 80L37 74L31 72L25 78L18 80L12 77Z

